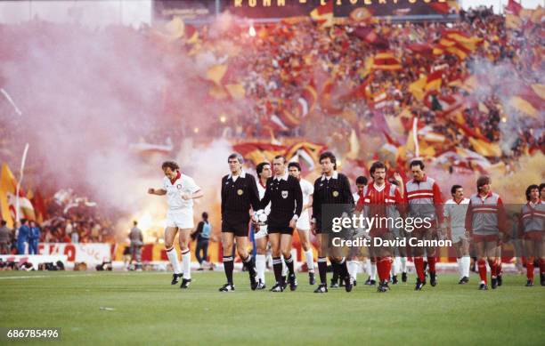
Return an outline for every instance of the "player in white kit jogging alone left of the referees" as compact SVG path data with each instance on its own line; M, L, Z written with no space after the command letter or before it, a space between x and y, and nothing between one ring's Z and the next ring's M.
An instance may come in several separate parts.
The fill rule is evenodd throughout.
M189 239L193 225L193 199L203 196L199 186L193 179L180 172L180 166L174 161L166 161L161 165L165 178L161 189L148 189L151 195L167 195L167 225L165 229L165 248L168 261L172 264L174 274L172 285L178 283L179 278L183 280L180 288L188 288L191 284L191 253ZM183 270L180 269L180 262L174 248L176 233L180 230L180 250L182 253Z

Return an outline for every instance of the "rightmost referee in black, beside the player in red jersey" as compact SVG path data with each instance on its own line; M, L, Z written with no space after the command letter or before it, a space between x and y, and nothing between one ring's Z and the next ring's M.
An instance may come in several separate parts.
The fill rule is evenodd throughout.
M312 220L313 233L319 235L316 239L318 240L318 271L321 284L314 290L314 293L317 294L328 292L326 275L328 260L325 246L329 245L329 233L332 226L331 221L322 221L322 205L343 205L341 209L345 213L351 213L354 210L354 197L350 190L350 182L346 175L337 172L337 158L331 152L326 151L320 155L320 165L321 177L314 181ZM327 224L323 222L327 222ZM331 253L329 259L333 270L345 279L346 292L350 292L353 282L348 274L346 259L338 254L340 249L334 247L331 250L334 253Z

